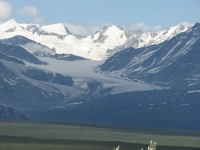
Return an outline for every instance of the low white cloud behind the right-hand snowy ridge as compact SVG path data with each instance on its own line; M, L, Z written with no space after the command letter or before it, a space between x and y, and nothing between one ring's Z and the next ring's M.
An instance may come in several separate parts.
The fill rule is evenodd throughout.
M162 27L157 25L157 26L148 26L145 23L137 23L137 24L132 24L124 27L126 30L141 30L143 32L148 32L148 31L160 31L162 30Z

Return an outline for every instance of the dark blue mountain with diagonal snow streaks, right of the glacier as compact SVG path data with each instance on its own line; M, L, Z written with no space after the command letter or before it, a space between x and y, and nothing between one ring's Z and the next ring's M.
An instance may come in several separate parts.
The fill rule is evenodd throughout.
M110 57L100 70L175 88L200 87L200 23L169 41L139 49L127 48Z

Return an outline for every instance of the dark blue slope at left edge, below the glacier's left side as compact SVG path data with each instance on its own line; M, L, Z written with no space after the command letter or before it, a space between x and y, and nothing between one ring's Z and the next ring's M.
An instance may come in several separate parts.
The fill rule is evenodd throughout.
M57 91L56 87L51 91L48 86L42 86L42 83L37 85L36 81L26 80L4 64L10 64L15 70L18 70L19 67L25 67L21 64L0 60L1 104L20 110L21 112L27 112L49 108L56 105L56 103L63 102L65 95L59 90Z

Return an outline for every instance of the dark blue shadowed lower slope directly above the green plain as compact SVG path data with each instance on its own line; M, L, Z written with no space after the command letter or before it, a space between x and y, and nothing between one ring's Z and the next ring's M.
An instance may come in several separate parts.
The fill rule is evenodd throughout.
M200 92L151 90L107 95L65 109L33 112L36 120L200 130Z

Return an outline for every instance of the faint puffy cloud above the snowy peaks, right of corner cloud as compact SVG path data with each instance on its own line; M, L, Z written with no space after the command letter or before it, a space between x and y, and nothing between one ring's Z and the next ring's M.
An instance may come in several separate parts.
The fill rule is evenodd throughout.
M26 15L31 17L31 21L34 23L42 24L45 22L44 17L34 6L25 6L24 8L18 10L18 13L21 15Z

